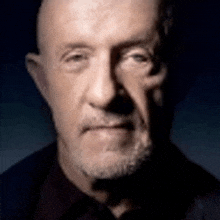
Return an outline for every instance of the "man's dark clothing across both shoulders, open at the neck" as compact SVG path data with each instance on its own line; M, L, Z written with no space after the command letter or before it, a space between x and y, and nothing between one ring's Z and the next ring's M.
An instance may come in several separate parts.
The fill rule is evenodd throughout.
M130 187L114 186L116 195L129 194L140 207L120 220L220 219L218 180L172 144L158 149L155 157L150 167L130 181ZM56 158L54 143L1 175L1 220L115 219L106 206L69 182Z

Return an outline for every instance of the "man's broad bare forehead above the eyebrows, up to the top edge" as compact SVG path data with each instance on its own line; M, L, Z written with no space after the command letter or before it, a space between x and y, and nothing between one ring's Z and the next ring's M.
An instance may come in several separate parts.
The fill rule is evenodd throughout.
M151 30L160 0L44 0L38 22L40 45L76 36L117 39Z

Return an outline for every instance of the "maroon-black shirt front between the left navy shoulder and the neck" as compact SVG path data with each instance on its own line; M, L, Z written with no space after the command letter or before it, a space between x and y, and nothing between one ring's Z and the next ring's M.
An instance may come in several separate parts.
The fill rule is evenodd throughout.
M115 219L102 204L78 190L64 175L56 161L41 187L35 220Z

